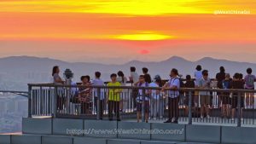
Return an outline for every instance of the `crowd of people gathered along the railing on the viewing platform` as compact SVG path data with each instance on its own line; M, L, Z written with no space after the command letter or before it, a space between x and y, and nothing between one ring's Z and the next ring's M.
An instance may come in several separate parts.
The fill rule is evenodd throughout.
M81 114L90 114L95 108L96 112L99 111L100 113L100 119L103 118L103 111L108 105L109 120L116 119L117 121L121 120L120 112L125 112L126 107L131 107L137 112L137 122L140 122L142 114L144 114L145 121L148 123L149 118L163 118L165 109L163 99L166 98L168 119L165 123L177 123L180 100L183 99L186 110L189 107L189 92L181 91L180 88L254 89L254 82L256 81L256 77L252 74L252 68L247 68L247 75L244 78L241 73L235 73L231 78L230 73L225 72L224 66L220 66L216 78L211 79L208 71L203 70L198 65L195 68L194 78L187 75L184 80L179 76L177 69L173 68L167 81L162 80L160 75L155 75L154 78L151 78L146 67L143 67L142 70L143 74L138 75L136 67L131 66L129 78L126 78L124 72L121 71L111 74L111 81L107 84L109 87L107 92L106 89L94 89L91 87L106 85L101 79L101 72L95 72L93 80L88 75L82 76L79 84L83 87L79 87L70 101L81 105ZM54 84L65 84L59 73L59 66L54 66L52 72ZM126 86L128 81L134 87L130 93L128 89L119 88L120 86ZM193 108L200 107L200 118L211 118L212 92L195 90L191 92L191 95L191 106ZM217 95L222 117L234 120L238 107L238 95L240 94L218 92ZM58 109L63 108L65 101L67 100L58 98ZM254 107L254 93L246 93L246 96L241 96L240 106L242 117L242 109L244 107Z

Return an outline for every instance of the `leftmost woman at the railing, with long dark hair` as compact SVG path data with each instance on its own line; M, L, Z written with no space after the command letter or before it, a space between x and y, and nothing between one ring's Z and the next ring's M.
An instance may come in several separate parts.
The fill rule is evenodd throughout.
M63 85L65 82L62 80L60 76L60 67L59 66L54 66L52 69L52 77L53 77L53 83L57 85ZM64 89L58 88L57 89L57 108L58 110L63 109L63 105L65 103L64 97Z

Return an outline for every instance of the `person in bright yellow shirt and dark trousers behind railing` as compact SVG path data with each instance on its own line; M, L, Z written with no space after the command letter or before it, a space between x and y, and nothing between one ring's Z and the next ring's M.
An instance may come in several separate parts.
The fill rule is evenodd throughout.
M115 73L110 76L111 82L107 84L108 87L119 87L121 84L117 81L117 75ZM108 89L108 118L110 121L113 120L113 112L116 115L117 121L120 121L119 115L119 101L120 93L122 89Z

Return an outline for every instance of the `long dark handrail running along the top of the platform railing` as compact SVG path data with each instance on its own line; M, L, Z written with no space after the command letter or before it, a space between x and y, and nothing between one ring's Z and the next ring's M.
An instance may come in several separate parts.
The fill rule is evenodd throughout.
M84 86L84 85L67 85L67 84L28 84L31 87L55 87L55 88L92 88L92 89L156 89L161 90L163 87L137 87L137 86ZM166 90L180 90L183 92L189 91L207 91L207 92L222 92L222 93L256 93L256 89L218 89L218 88L180 88L180 89L169 89Z

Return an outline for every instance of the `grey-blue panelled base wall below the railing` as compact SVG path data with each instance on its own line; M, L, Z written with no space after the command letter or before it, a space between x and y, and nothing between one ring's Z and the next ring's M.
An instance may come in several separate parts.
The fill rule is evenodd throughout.
M67 129L82 130L81 137L68 137ZM153 130L159 131L160 134L117 134L117 130ZM156 131L155 131L156 130ZM167 130L167 131L166 131ZM105 133L104 133L105 131ZM113 132L107 134L108 132ZM221 127L207 125L184 125L184 124L146 124L146 123L131 123L131 122L114 122L114 121L96 121L96 120L80 120L80 119L38 119L38 118L23 118L24 134L39 134L45 135L41 137L42 143L51 144L55 140L62 141L64 144L79 144L87 141L87 143L104 143L109 141L112 143L119 142L118 140L131 139L137 143L159 143L175 141L176 143L224 143L224 144L247 144L256 143L256 128L237 128L237 127ZM161 132L169 132L169 134L161 134ZM170 133L172 132L172 133ZM62 137L51 137L47 135L62 135ZM27 135L24 135L25 137ZM72 135L73 136L73 135ZM77 136L77 135L75 135ZM97 139L100 138L100 139ZM26 141L26 144L32 142L37 144L37 136L27 136L24 138L20 135L0 135L0 144L12 144L16 141ZM26 139L31 139L28 141ZM136 141L134 141L136 140ZM17 143L18 144L18 143ZM22 144L22 143L19 143Z

